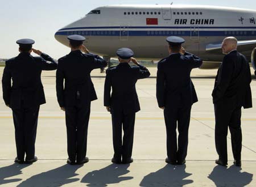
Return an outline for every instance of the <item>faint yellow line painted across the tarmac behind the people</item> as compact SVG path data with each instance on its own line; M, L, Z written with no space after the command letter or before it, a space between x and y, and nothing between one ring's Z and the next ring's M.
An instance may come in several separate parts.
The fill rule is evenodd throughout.
M0 116L0 118L13 118L13 116ZM39 116L39 118L43 119L64 119L65 116ZM105 116L92 116L90 120L111 120L111 117ZM164 120L163 117L136 117L136 120ZM191 121L198 121L198 120L205 120L205 121L215 121L213 117L191 117ZM242 121L256 121L256 118L242 118Z

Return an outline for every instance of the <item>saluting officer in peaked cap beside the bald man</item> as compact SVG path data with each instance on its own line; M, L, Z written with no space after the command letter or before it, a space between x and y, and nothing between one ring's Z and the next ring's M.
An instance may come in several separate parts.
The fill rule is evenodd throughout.
M193 68L200 67L199 57L185 52L181 37L167 37L170 55L158 63L156 97L164 110L167 133L166 163L184 164L188 147L188 128L191 107L197 102L196 91L190 78ZM179 131L178 146L176 128Z

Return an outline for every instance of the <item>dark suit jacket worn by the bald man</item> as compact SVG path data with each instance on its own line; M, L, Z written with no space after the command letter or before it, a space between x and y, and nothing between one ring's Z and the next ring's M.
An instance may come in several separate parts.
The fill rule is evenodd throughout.
M226 54L215 79L213 103L251 108L251 72L245 56L237 50Z

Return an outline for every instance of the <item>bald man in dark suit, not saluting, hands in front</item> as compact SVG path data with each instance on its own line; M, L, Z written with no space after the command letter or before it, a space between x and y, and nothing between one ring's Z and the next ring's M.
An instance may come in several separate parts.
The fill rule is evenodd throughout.
M241 167L241 108L251 108L251 71L245 56L237 52L237 39L227 37L222 42L225 55L216 76L212 92L215 113L215 145L219 165L228 164L226 136L231 134L234 164Z

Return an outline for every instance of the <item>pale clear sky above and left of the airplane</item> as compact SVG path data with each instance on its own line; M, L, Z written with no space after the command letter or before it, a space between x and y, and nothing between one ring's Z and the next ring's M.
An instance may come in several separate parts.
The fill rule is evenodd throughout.
M256 10L255 0L0 0L0 58L17 56L19 52L16 40L30 38L35 40L35 49L58 59L68 54L70 49L55 40L55 32L82 18L90 10L104 5L168 5L171 2L174 5L214 5Z

